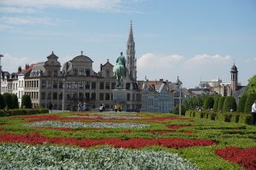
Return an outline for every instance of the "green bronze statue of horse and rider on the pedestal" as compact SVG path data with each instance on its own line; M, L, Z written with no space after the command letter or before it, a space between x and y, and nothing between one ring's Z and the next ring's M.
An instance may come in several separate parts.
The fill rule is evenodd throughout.
M123 77L126 74L126 66L125 66L125 57L123 56L123 52L121 52L118 59L116 59L116 63L113 66L113 76L116 77L117 83L116 88L123 88L124 82Z

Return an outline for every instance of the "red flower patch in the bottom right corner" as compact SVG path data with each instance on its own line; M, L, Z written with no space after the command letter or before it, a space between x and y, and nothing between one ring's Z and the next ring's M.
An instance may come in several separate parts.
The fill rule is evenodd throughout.
M236 147L215 150L215 154L223 157L225 160L239 164L247 170L256 169L256 147L238 149Z

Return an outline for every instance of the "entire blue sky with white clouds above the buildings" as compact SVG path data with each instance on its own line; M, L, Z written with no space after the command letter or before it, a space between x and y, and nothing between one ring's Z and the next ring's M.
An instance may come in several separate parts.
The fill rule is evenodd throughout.
M2 70L83 51L98 72L125 54L131 20L138 80L230 82L235 63L247 85L256 73L255 0L0 0Z

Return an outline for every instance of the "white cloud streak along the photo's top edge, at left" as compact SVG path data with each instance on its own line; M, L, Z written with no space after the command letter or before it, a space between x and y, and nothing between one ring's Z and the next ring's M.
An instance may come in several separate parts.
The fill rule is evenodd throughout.
M120 8L121 0L2 0L0 4L26 8L81 8L90 10L116 10Z

